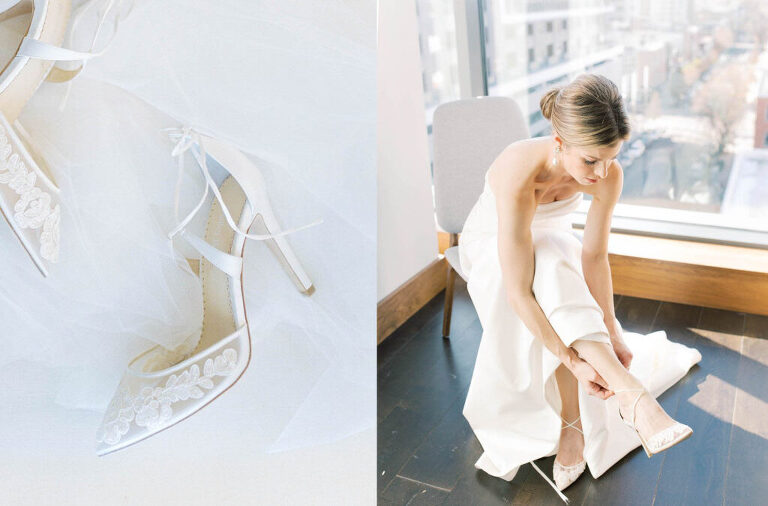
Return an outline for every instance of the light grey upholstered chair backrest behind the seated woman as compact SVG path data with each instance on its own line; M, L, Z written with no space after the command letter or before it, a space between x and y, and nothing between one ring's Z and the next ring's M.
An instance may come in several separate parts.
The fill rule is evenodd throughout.
M467 98L435 109L432 170L440 228L461 232L491 163L509 144L528 137L528 124L511 98Z

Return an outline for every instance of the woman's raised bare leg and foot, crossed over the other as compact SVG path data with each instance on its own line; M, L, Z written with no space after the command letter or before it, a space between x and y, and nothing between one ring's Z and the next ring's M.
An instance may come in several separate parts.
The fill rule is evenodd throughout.
M640 381L630 374L613 352L610 344L577 339L571 347L579 356L595 368L608 383L611 390L623 388L642 388ZM621 413L627 420L632 419L632 403L640 392L620 392L616 394ZM643 395L637 403L636 424L645 437L671 426L674 420L664 411L653 395Z

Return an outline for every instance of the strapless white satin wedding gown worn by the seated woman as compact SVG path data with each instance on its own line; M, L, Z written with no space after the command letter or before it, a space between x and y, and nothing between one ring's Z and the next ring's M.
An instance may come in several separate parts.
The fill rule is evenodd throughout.
M533 293L566 346L577 339L610 343L603 311L584 280L581 242L572 231L571 212L582 199L577 192L539 204L531 224ZM496 213L486 173L483 192L459 237L459 260L483 327L463 414L484 450L475 467L512 480L522 464L557 453L562 404L554 372L560 361L507 303ZM634 355L630 371L655 397L701 360L698 350L670 341L663 330L623 335ZM584 458L597 478L639 446L640 439L619 418L615 396L603 401L579 384L579 409Z

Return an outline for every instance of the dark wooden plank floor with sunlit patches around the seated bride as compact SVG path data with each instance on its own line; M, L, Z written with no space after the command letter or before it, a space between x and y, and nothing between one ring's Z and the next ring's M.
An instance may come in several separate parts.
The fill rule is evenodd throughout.
M378 496L382 505L564 504L530 465L507 482L474 468L482 448L461 414L481 327L457 281L451 339L441 293L378 350ZM638 447L571 504L768 504L768 317L615 297L625 330L663 329L702 360L659 401L694 435L649 459ZM768 304L768 301L766 301ZM554 456L536 461L551 477Z

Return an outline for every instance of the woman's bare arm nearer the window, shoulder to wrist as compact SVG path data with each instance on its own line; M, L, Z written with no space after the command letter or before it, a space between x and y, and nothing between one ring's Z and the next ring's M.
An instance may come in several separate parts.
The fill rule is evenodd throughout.
M582 242L581 265L590 293L603 310L603 321L611 339L619 336L613 307L613 284L608 263L608 237L611 217L619 200L623 185L623 171L619 162L613 162L608 176L596 187L587 213Z

